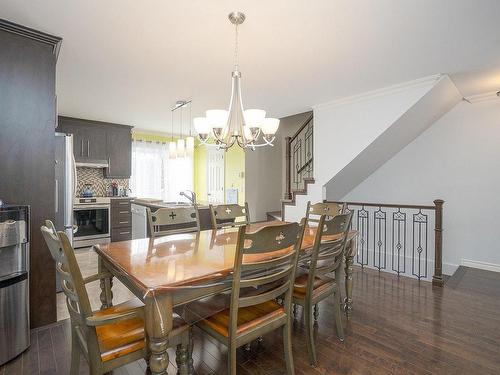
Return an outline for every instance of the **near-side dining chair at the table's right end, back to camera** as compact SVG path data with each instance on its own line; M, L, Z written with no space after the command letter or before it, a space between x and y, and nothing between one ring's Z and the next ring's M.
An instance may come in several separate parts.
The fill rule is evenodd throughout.
M301 262L297 270L293 303L303 307L309 362L313 366L317 364L317 359L312 309L314 306L314 318L317 319L317 304L332 294L337 336L344 341L340 289L334 275L342 266L351 220L352 212L333 217L321 215L310 258Z

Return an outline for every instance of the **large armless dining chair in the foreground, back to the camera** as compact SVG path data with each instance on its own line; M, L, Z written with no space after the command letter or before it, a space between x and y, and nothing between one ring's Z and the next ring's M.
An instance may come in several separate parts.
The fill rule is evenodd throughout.
M287 374L294 374L291 342L291 301L303 221L238 230L230 306L197 323L228 348L228 374L236 374L236 349L260 336L283 329ZM283 297L283 304L276 298Z

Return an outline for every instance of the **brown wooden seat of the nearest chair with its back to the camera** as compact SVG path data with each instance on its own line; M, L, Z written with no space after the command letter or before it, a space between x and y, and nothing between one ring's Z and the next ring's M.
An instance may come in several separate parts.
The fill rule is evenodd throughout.
M267 301L258 305L238 309L236 334L242 334L257 326L285 315L285 309L275 301ZM229 337L229 309L221 311L202 320L200 326L207 326L222 336Z

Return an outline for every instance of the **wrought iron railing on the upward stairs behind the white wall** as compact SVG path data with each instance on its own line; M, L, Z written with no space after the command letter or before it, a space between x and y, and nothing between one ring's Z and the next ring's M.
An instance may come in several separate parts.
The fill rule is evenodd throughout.
M313 178L313 117L300 127L293 137L285 138L286 192L285 199L292 199L293 192L303 192Z

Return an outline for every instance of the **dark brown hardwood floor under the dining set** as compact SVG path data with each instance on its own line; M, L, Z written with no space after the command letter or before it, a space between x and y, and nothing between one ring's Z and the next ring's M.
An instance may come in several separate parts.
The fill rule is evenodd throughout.
M499 374L500 274L461 267L444 288L372 270L354 273L354 310L338 341L332 303L320 305L319 366L307 361L302 313L293 330L297 375ZM8 374L68 374L69 325L64 320L31 333L31 348L0 368ZM175 374L170 351L169 374ZM264 336L251 351L238 350L238 374L283 374L281 334ZM195 330L198 374L225 374L225 348ZM114 372L144 374L144 361ZM88 373L82 361L81 374Z

